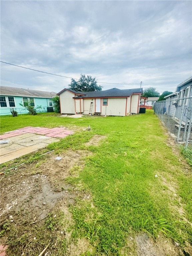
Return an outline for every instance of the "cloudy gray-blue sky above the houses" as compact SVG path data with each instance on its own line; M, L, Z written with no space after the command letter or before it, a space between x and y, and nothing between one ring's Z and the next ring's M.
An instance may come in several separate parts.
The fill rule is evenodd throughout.
M174 92L192 75L191 10L191 1L1 1L1 61L91 75L103 90L142 81ZM59 92L70 82L1 63L4 86Z

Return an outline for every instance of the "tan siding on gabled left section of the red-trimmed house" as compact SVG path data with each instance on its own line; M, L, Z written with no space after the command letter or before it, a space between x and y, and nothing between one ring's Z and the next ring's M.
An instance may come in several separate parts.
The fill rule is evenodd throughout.
M61 113L75 114L75 101L73 99L74 96L75 94L69 91L63 91L60 94Z

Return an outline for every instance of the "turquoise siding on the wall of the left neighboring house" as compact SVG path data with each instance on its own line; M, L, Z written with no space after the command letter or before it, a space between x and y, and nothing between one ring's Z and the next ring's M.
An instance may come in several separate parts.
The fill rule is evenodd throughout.
M7 106L9 106L8 102L8 96L1 95L6 97ZM11 95L9 95L11 96ZM24 107L20 106L19 104L23 104L23 97L26 96L11 96L14 97L15 107L0 107L0 115L11 115L10 109L14 108L18 114L27 114L28 111L24 109ZM33 98L35 107L41 106L40 109L41 112L47 112L47 107L49 107L49 99L51 98L36 98L36 97L27 97L27 98Z

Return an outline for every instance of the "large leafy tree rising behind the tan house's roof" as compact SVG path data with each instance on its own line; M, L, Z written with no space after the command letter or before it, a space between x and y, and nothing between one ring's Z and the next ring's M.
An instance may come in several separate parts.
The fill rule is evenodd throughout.
M91 92L91 91L101 91L103 86L97 85L96 77L85 76L81 74L78 81L71 79L71 83L68 85L68 89L79 91L79 92Z

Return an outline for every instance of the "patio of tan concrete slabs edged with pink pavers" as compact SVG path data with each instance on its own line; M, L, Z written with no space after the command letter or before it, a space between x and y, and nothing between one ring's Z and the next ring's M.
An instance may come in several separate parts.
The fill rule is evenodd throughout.
M24 127L0 135L0 140L9 140L0 144L0 164L32 153L52 142L73 134L66 128Z

